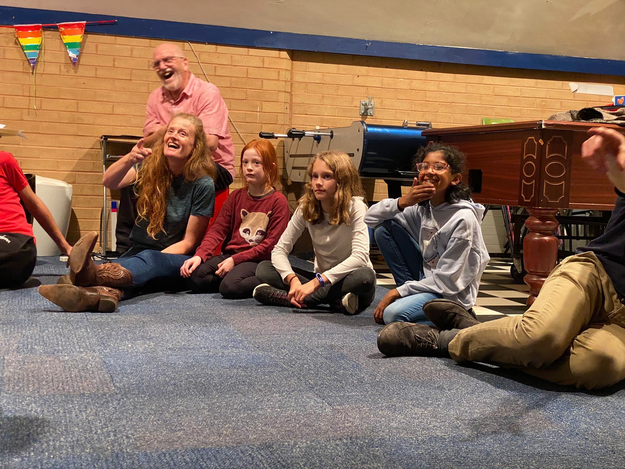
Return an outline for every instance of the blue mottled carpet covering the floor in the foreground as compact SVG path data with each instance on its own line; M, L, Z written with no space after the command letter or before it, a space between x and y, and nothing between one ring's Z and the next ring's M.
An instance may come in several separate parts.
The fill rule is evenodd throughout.
M372 306L153 293L66 313L36 291L65 272L39 258L0 290L1 467L622 467L623 386L384 358Z

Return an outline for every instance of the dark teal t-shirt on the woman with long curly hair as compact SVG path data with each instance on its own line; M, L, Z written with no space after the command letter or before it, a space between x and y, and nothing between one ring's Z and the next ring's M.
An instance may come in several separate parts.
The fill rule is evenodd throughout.
M156 240L148 235L148 220L137 219L130 233L131 247L162 251L184 238L189 216L211 217L215 208L215 186L210 176L187 181L177 176L171 181L163 229Z

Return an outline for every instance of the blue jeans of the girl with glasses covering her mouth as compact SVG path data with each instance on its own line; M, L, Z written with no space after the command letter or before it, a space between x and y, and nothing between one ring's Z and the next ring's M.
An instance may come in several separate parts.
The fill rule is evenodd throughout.
M374 236L377 248L384 256L397 286L404 285L407 281L425 278L419 243L412 238L401 223L394 219L385 220L376 226ZM423 305L436 298L442 298L442 295L424 292L399 298L384 310L382 316L384 324L404 321L432 325L423 314Z

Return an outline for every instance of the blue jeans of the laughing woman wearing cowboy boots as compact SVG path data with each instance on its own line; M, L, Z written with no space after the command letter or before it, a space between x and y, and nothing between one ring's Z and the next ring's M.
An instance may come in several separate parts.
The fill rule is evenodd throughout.
M133 274L135 286L142 286L156 279L179 280L180 268L190 258L184 254L166 254L146 249L138 255L119 258L118 264Z

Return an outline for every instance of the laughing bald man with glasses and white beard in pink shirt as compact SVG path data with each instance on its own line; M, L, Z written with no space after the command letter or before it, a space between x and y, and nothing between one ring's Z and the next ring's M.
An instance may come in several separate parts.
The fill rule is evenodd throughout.
M176 44L157 46L152 68L163 86L155 89L148 98L143 135L149 136L163 129L173 114L195 114L204 124L212 158L218 163L215 189L225 189L234 178L234 144L228 109L219 89L189 71L189 60Z

